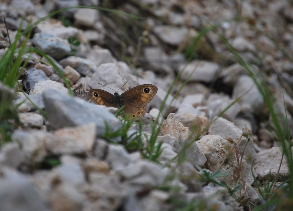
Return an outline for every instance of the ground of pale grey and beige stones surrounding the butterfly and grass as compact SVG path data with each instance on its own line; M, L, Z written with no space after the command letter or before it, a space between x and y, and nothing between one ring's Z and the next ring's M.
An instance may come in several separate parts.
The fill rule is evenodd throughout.
M242 183L237 178L237 157L245 198L251 197L253 205L263 203L252 172L258 181L272 180L279 170L282 149L269 130L272 120L262 95L217 32L255 73L266 77L292 132L293 5L285 0L1 0L0 16L6 18L13 42L22 17L25 30L30 21L35 23L52 11L71 6L107 6L119 13L93 8L61 11L33 27L27 46L44 52L77 90L112 92L98 83L118 90L128 81L119 90L121 94L140 84L156 85L158 92L148 104L142 134L137 125L126 134L136 133L131 139L141 137L146 148L126 150L119 135L107 141L122 127L123 122L114 115L117 109L89 103L84 93L70 97L56 68L48 65L50 61L30 54L25 59L33 67L26 69L27 76L20 82L24 90L30 83L27 97L46 112L47 120L16 88L13 105L18 106L21 124L11 134L13 142L0 150L0 210L160 211L188 206L190 210L248 210L247 203L240 205L237 200L245 196L243 188L231 196L227 188L206 185L196 169L215 173L220 168L229 175L218 180L233 188ZM235 21L237 17L240 21ZM201 30L210 24L217 24L217 32L210 30L194 46ZM0 37L4 38L0 56L9 47L6 36L0 18ZM80 44L69 42L72 37ZM162 153L153 162L142 156L151 139L149 119L155 122L158 118L164 98L182 70L162 108L166 116L158 119L163 124L156 145L162 143ZM1 84L1 90L7 89ZM243 128L252 131L251 137L242 136ZM226 138L240 141L237 155ZM181 159L173 159L178 153ZM288 178L284 159L277 181Z

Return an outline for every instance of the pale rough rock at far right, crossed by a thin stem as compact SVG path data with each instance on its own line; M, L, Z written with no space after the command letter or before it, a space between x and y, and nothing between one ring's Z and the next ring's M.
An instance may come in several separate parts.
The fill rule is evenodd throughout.
M282 148L280 147L272 147L270 150L258 152L253 160L253 168L258 178L260 180L268 180L270 178L272 181L278 173L281 159ZM284 156L277 181L286 181L289 179L289 174L288 161Z

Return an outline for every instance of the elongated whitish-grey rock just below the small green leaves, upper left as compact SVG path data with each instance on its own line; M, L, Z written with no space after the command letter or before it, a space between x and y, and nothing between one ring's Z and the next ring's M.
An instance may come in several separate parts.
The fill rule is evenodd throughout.
M97 66L89 59L83 59L76 56L70 56L59 62L63 67L71 66L82 76L92 76L97 71Z

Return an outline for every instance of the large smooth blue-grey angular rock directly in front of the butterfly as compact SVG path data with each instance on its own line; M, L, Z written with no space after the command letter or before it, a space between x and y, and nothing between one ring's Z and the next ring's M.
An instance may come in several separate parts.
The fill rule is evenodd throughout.
M103 106L71 98L57 90L45 90L42 96L50 126L54 129L81 126L94 122L96 124L96 135L103 136L105 134L105 123L108 124L108 132L110 133L121 127L120 120L105 111Z

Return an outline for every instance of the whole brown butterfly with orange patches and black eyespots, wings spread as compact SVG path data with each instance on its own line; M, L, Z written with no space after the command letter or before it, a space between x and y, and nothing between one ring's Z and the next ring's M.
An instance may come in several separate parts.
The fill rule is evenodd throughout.
M117 92L112 95L104 90L92 89L88 91L88 97L95 104L106 107L121 108L125 105L125 115L134 118L136 116L144 116L147 112L147 104L151 102L157 91L158 88L155 85L144 84L127 90L121 95Z

